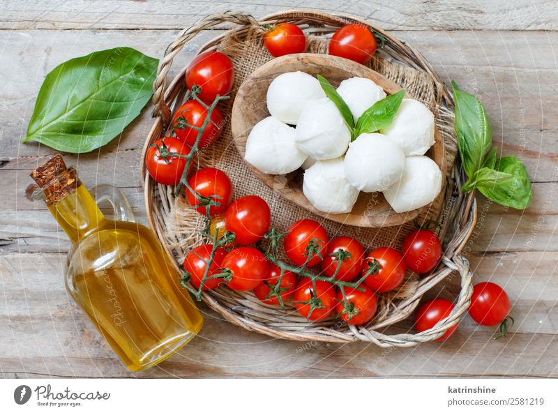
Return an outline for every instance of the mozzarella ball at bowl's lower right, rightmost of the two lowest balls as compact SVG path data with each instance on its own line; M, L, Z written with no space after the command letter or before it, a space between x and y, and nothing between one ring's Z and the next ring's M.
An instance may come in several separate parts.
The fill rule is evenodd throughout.
M412 211L430 204L442 190L442 171L428 156L409 156L400 181L384 197L395 212Z

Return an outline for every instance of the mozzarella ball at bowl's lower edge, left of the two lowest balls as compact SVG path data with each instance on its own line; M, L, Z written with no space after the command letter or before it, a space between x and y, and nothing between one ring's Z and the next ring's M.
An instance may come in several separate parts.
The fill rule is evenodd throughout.
M302 191L315 209L326 213L345 213L353 208L359 190L343 172L343 159L318 160L304 172Z

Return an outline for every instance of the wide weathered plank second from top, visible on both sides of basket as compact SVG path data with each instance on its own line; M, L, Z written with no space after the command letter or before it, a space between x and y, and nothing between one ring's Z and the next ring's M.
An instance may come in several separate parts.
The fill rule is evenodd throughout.
M10 77L0 85L0 161L8 161L3 168L19 168L10 163L20 162L21 157L54 153L36 143L21 143L40 83L54 66L93 49L117 45L160 56L176 35L174 31L61 31L55 36L56 47L52 47L50 43L45 45L41 33L0 32L0 48L7 51L0 70L26 74L25 79ZM478 33L465 31L395 34L423 51L444 79L455 79L463 89L481 96L492 121L495 144L503 153L525 160L531 179L556 179L553 171L558 160L558 105L553 103L558 101L558 73L552 65L558 33L483 32L482 39ZM188 45L176 59L175 72L212 36L214 33L202 33ZM22 50L25 52L18 52ZM120 139L103 147L100 153L142 147L151 123L149 106ZM96 159L98 154L95 151L85 159Z

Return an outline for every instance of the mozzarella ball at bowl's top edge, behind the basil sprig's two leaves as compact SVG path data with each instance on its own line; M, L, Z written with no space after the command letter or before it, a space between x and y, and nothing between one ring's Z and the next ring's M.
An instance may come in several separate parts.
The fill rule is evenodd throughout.
M382 87L365 77L351 77L343 80L337 88L337 93L347 103L355 122L359 120L365 110L386 97L386 92Z

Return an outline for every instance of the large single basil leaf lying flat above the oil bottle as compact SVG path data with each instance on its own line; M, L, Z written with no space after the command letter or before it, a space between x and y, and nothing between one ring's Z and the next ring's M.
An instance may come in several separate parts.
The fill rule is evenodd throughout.
M102 147L151 98L157 65L158 59L116 47L56 66L40 87L23 142L70 153Z

